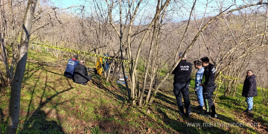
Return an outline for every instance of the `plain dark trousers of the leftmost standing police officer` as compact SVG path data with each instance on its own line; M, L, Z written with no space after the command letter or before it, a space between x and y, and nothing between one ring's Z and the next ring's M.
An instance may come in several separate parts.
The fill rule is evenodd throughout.
M176 97L176 101L181 113L184 113L183 104L182 104L182 97L184 100L184 106L186 109L186 113L191 113L191 104L189 98L189 85L188 84L173 84L173 93Z

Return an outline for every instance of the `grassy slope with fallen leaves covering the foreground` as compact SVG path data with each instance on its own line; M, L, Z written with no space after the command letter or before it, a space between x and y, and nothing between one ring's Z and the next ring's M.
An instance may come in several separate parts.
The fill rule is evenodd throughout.
M49 54L29 51L28 59L56 61ZM267 133L268 108L254 97L253 114L246 114L241 85L236 97L223 97L217 101L219 118L204 118L202 111L192 110L192 118L178 114L172 85L157 93L150 107L132 107L126 102L123 85L105 83L93 73L87 86L73 83L62 76L63 67L27 62L21 91L21 112L18 133ZM58 64L60 65L60 64ZM93 65L88 65L93 67ZM170 81L172 84L172 81ZM190 88L193 107L198 105ZM223 90L221 90L223 92ZM1 129L5 131L10 89L1 91ZM258 122L259 127L188 127L188 122L232 123Z

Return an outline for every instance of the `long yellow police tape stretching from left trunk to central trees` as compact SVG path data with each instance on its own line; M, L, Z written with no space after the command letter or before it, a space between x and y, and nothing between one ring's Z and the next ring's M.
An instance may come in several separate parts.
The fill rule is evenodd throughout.
M92 53L78 51L78 50L73 50L73 49L69 49L69 48L62 48L62 47L51 46L51 45L40 44L40 43L34 43L34 42L29 42L29 43L30 44L34 44L34 45L38 45L38 46L42 46L42 47L53 48L53 49L58 49L58 50L72 52L72 53L77 53L77 54L82 54L82 55L88 55L88 56L93 56L93 57L105 58L105 59L115 60L115 61L120 61L120 62L130 62L128 60L111 58L111 57L107 57L107 56L103 56L103 55L92 54Z

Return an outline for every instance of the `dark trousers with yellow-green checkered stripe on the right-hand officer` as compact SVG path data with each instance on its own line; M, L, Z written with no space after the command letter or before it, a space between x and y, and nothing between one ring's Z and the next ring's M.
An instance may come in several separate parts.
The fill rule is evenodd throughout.
M214 90L215 86L203 86L203 99L205 102L206 113L211 115L216 114L215 105L212 100Z

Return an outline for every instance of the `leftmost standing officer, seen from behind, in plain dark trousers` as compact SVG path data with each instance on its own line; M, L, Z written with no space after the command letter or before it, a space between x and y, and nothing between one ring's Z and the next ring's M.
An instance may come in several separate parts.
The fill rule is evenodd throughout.
M179 58L182 57L182 52L179 53ZM186 61L186 55L182 58L182 61L173 70L174 82L173 82L173 93L176 97L177 104L179 107L180 115L190 117L191 115L191 104L189 99L189 84L191 82L192 64ZM184 106L186 113L184 113L182 96L184 100Z

